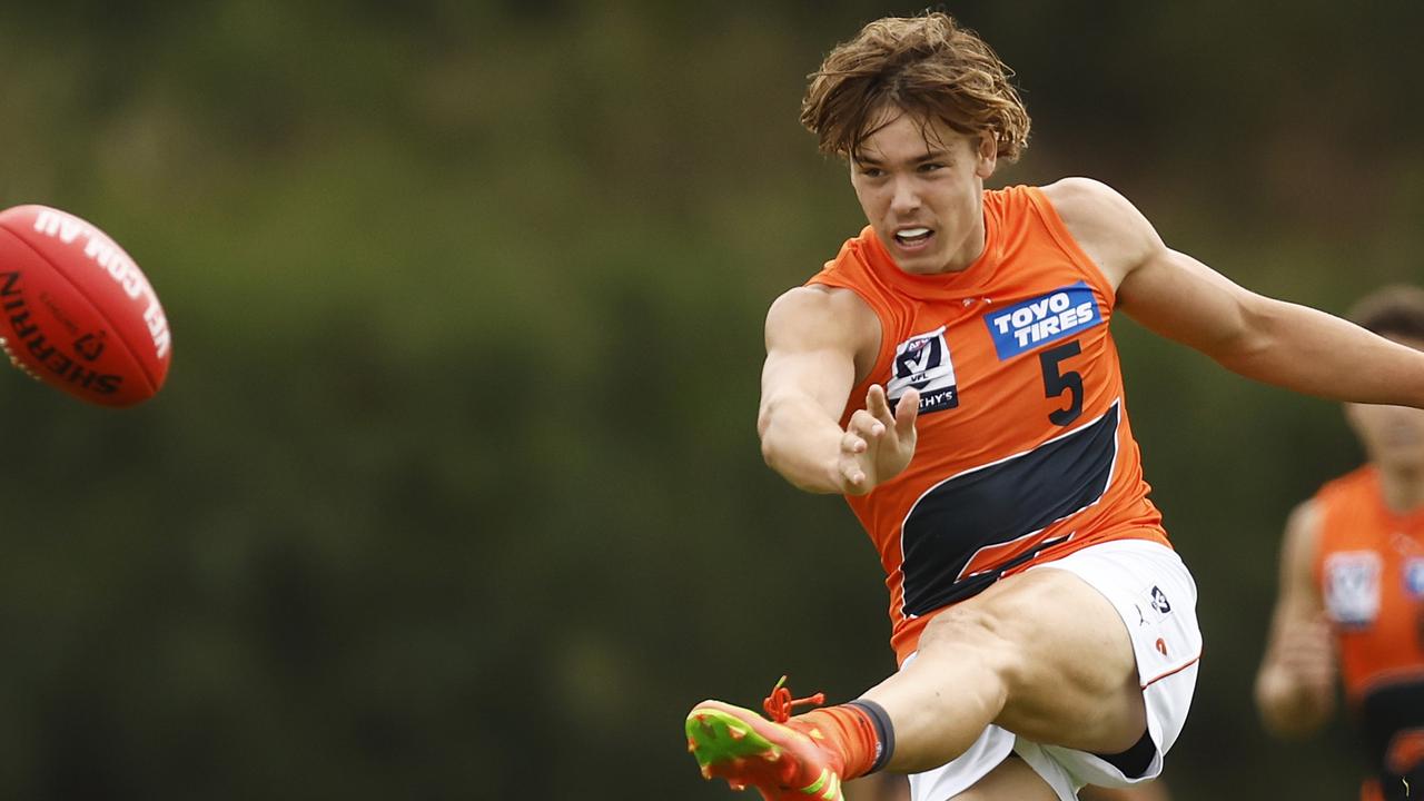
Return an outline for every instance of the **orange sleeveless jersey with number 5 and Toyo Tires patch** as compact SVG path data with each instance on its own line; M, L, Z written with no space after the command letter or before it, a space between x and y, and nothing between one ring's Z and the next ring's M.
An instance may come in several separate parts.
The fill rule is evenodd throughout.
M809 284L856 292L880 318L871 383L920 393L910 466L847 497L880 552L900 661L938 610L1081 547L1166 544L1148 500L1108 332L1114 291L1034 187L984 192L984 252L911 275L866 228Z

